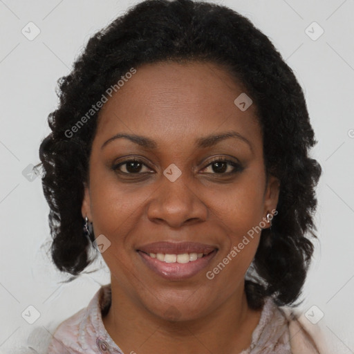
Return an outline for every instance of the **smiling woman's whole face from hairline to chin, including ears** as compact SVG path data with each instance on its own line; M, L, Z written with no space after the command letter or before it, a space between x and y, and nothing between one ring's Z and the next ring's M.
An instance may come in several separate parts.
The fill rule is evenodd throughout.
M195 319L243 292L252 227L269 227L277 207L255 106L234 103L241 93L214 64L149 64L100 111L82 215L115 288L159 317Z

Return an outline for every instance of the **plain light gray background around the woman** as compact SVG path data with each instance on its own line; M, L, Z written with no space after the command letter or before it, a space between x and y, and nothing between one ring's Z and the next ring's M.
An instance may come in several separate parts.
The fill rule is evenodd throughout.
M56 81L66 75L93 33L139 1L0 0L0 351L24 341L33 326L65 319L88 304L109 273L83 274L60 283L50 263L48 206L40 178L22 171L39 162L38 148L49 133ZM354 353L354 1L209 1L248 17L268 35L304 88L319 141L312 155L323 169L317 189L320 243L304 288L306 312L324 313L326 335L337 353ZM34 22L40 34L22 33ZM316 21L317 40L305 30ZM310 28L311 30L311 28ZM315 32L317 29L311 30ZM96 263L100 265L100 262ZM28 324L21 313L35 306L40 317Z

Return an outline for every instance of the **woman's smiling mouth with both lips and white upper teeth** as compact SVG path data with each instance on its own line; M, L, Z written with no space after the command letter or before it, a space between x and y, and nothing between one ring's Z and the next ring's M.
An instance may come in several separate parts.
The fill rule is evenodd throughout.
M209 265L218 248L201 243L151 243L136 250L149 270L168 280L183 280Z

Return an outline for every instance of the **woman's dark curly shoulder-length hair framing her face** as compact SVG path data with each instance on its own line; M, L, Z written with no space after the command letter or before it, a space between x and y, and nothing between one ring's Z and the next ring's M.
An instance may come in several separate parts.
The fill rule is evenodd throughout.
M51 255L59 270L77 276L91 264L95 236L81 214L98 111L71 137L71 129L109 86L130 68L156 62L219 64L241 82L257 108L265 172L280 180L277 216L261 232L254 257L257 277L245 280L251 308L272 296L295 306L317 239L315 187L322 174L308 156L317 141L304 93L272 42L247 18L225 6L191 0L147 0L88 40L73 70L58 80L52 132L39 149L42 185L50 206Z

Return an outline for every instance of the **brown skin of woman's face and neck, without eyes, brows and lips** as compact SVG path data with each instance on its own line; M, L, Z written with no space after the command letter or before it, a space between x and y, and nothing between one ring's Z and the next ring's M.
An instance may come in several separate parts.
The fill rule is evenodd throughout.
M124 353L236 354L250 345L261 310L249 308L244 277L260 233L214 279L205 276L277 207L279 180L269 176L265 184L256 107L241 111L234 104L243 92L216 64L145 64L100 111L82 216L111 242L102 257L111 270L112 303L102 320ZM225 131L237 131L252 149L236 138L194 146ZM147 136L157 147L120 138L101 148L117 133ZM132 157L143 163L135 174L127 175L127 165L112 169ZM243 169L225 176L233 170L227 164L217 173L212 158L223 157ZM182 172L173 183L163 175L171 163ZM218 252L194 277L168 281L136 252L155 241L196 241Z

